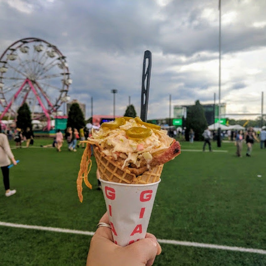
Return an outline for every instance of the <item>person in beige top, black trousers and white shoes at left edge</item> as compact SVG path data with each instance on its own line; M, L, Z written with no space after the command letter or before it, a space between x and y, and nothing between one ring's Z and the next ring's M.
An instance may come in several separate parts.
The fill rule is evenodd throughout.
M0 125L1 130L1 125ZM8 137L0 133L0 166L3 174L3 182L5 187L5 195L6 197L14 195L17 191L15 189L10 190L10 184L9 184L9 168L11 161L13 165L17 165L17 161L15 160L15 157L10 149Z

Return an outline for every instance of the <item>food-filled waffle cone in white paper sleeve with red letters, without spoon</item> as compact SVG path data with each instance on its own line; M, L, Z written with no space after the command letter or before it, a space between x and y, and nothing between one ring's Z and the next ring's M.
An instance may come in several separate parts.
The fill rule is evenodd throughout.
M85 142L77 179L80 201L82 181L91 188L92 145L114 241L124 246L144 238L163 164L180 154L179 142L139 117L103 123Z

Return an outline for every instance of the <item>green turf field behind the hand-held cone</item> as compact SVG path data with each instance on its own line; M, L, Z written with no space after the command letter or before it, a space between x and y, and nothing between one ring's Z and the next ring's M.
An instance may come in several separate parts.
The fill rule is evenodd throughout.
M80 203L76 177L83 149L69 152L64 144L58 153L40 147L47 143L51 140L37 138L33 147L13 149L20 160L10 169L11 188L17 193L5 197L0 182L0 221L95 231L106 207L96 189L94 157L93 189L84 185ZM246 157L243 145L243 157L238 158L233 143L223 142L220 148L212 143L214 151L204 153L202 144L182 142L181 155L165 164L148 232L158 239L266 250L266 149L256 143L252 156ZM0 265L85 265L90 239L0 226ZM153 265L266 265L266 254L161 246Z

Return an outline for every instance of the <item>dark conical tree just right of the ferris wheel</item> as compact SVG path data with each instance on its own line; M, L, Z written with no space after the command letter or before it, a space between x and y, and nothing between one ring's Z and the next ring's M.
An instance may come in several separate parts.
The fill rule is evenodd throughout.
M67 127L76 128L78 131L85 126L84 115L79 107L79 104L73 103L69 108Z

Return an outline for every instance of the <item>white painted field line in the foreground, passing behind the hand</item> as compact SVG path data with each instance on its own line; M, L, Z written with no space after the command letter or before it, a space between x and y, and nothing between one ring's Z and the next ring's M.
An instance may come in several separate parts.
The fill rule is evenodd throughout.
M0 222L0 226L34 229L34 230L42 230L42 231L52 231L52 232L58 232L58 233L88 235L88 236L93 236L95 233L95 232L90 232L90 231L80 231L80 230L72 230L72 229L64 229L64 228L56 228L56 227L45 227L45 226L37 226L37 225L19 224L19 223L6 223L6 222ZM258 253L258 254L266 255L266 250L264 249L230 247L230 246L222 246L222 245L215 245L215 244L205 244L205 243L188 242L188 241L176 241L176 240L167 240L167 239L157 239L157 241L162 244L180 245L180 246L197 247L197 248L214 248L214 249Z

